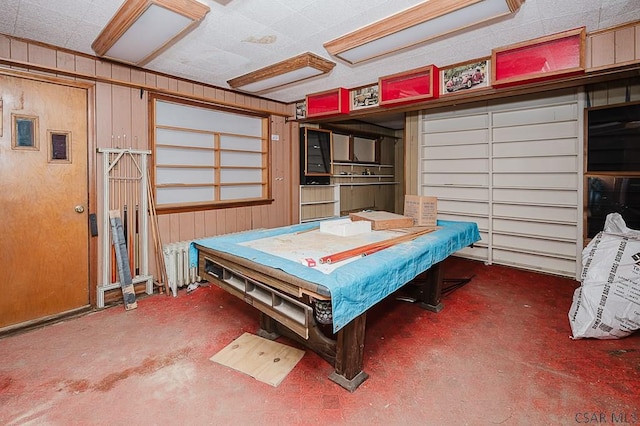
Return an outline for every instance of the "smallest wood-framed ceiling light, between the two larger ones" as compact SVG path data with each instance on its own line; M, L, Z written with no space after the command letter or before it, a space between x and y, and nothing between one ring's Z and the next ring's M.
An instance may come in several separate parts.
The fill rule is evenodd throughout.
M277 64L233 78L227 83L234 89L258 93L326 74L335 66L335 62L306 52Z

